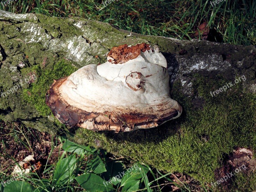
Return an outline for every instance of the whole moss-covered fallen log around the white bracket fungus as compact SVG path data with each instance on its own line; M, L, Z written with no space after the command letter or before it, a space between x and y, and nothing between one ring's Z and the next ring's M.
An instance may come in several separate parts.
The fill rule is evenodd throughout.
M185 172L203 182L214 181L223 154L234 147L256 150L255 46L129 36L130 32L107 23L79 17L5 11L0 11L0 28L0 90L6 95L1 95L0 119L4 121L66 133L76 142L164 171ZM56 122L44 103L53 79L105 62L113 46L143 42L157 44L167 59L171 96L183 107L180 118L157 128L118 134L70 129ZM36 79L27 82L31 74ZM230 82L234 85L227 90L210 93ZM15 85L20 86L14 89ZM248 188L255 187L251 180Z

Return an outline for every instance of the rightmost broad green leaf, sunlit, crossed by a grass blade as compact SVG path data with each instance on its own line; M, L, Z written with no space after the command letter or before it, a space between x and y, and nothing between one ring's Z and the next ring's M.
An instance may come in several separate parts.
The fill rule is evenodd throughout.
M143 166L143 168L145 169L145 172L148 172L147 167ZM129 169L127 169L127 171L124 173L124 176L121 180L121 186L124 186L129 181L134 181L134 180L138 180L141 178L142 178L142 175L140 173L139 166L138 166L138 164L135 164L132 167L130 167Z

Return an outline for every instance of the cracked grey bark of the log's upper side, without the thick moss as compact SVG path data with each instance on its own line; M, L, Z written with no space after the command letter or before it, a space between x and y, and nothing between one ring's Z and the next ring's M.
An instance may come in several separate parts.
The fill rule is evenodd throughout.
M243 82L245 92L256 92L255 46L205 40L181 41L136 33L128 36L128 31L79 17L51 18L42 14L13 14L1 10L0 29L1 92L7 92L25 78L20 68L29 71L36 64L47 65L63 58L81 68L105 62L113 46L142 42L159 46L168 62L171 88L174 82L181 82L180 92L194 97L196 107L202 107L202 103L196 93L191 92L194 78L191 75L195 73L204 77L220 74L227 82L244 75L247 78L246 83ZM51 116L41 116L33 105L23 100L22 89L27 87L28 84L25 84L7 97L1 97L0 118L22 121L42 131L57 133Z

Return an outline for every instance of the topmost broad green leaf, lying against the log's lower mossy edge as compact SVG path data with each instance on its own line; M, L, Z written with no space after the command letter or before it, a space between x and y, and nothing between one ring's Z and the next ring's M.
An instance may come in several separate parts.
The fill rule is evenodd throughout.
M76 153L78 155L82 155L86 152L90 152L90 153L93 152L89 146L79 145L79 144L73 143L69 140L64 140L64 141L65 142L63 143L62 148L66 152Z

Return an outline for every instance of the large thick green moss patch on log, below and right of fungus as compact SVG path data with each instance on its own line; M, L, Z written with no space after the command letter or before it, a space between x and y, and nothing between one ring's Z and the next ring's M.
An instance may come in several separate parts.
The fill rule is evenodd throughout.
M172 98L183 107L182 115L158 128L125 133L92 132L79 129L77 134L94 147L119 156L153 165L166 172L184 172L201 182L213 182L214 170L221 166L223 154L233 148L256 150L256 95L243 93L242 83L212 98L210 91L227 82L196 74L193 92L204 100L202 108L181 92L181 83L172 87ZM215 89L216 88L216 89Z

